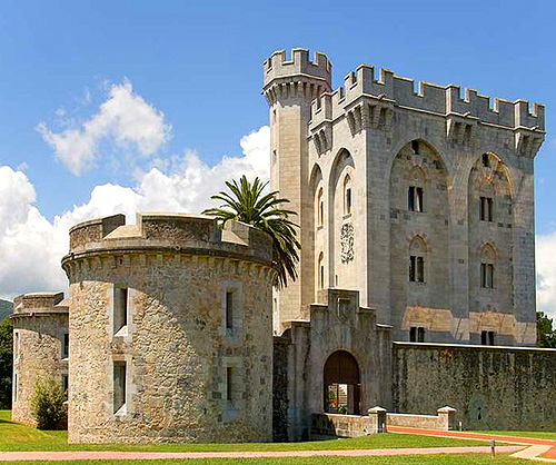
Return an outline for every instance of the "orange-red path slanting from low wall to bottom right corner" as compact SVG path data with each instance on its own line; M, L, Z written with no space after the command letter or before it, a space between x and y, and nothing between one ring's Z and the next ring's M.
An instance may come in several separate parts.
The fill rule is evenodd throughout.
M443 432L434 429L407 428L401 426L389 426L390 433L420 434L425 436L457 437L459 439L495 439L500 443L529 445L526 449L514 454L518 458L530 458L539 462L556 463L556 441L540 439L534 437L504 436L498 434L468 433L468 432ZM502 452L500 447L496 447Z

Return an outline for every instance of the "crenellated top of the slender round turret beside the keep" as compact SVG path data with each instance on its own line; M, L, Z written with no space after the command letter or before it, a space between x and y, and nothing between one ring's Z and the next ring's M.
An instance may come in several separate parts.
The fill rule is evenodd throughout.
M331 83L332 65L326 55L315 52L314 60L309 60L309 50L292 49L291 59L286 58L285 50L275 51L265 60L264 80L265 88L275 79L306 76Z

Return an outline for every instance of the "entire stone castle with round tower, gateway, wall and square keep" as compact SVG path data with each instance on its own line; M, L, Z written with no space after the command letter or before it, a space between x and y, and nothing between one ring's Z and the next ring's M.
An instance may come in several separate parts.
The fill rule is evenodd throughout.
M376 406L554 428L556 352L534 347L544 107L490 108L451 85L416 92L368 66L332 91L327 57L305 49L265 61L264 95L271 185L300 225L298 279L272 291L271 243L239 222L75 226L62 259L70 441L296 441L346 424L357 435L367 413L379 429ZM16 340L40 330L17 321ZM14 417L29 398L23 362L52 356L21 349Z

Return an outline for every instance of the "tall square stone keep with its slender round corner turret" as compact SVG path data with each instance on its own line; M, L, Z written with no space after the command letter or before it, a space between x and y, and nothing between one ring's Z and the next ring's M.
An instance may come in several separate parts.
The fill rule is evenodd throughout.
M339 288L395 340L534 345L544 106L366 65L329 83L320 53L265 62L272 187L299 211L302 245L275 329Z

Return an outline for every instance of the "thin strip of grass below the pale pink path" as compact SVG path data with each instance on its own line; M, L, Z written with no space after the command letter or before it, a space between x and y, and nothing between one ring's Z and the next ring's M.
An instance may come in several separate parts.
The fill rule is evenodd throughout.
M205 461L75 461L49 462L52 465L225 465L229 458ZM310 457L310 458L244 458L232 461L235 465L530 465L530 461L516 459L500 454L492 459L488 454L420 455L396 457ZM37 462L2 462L11 465L37 465Z

